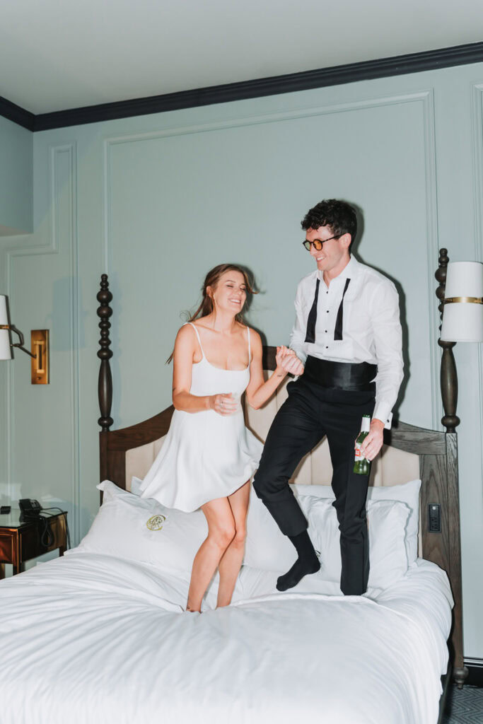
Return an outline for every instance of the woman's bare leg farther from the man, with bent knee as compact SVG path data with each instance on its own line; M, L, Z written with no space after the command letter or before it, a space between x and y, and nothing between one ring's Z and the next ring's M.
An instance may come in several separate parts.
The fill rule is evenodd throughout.
M201 506L208 522L208 536L193 560L186 610L200 611L208 584L219 560L235 536L235 520L228 498L210 500Z

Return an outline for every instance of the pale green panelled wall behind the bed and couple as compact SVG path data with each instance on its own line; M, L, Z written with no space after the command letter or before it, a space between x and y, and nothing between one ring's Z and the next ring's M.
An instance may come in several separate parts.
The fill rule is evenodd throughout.
M249 321L287 342L312 268L300 220L330 196L364 209L358 256L401 290L400 416L440 429L434 269L440 246L453 261L483 258L482 91L478 64L36 133L35 233L4 241L0 258L15 324L51 329L51 384L30 385L26 355L0 366L0 494L64 501L75 541L96 513L103 271L122 427L169 404L164 360L214 264L253 269L262 293ZM469 657L483 657L481 352L455 348Z

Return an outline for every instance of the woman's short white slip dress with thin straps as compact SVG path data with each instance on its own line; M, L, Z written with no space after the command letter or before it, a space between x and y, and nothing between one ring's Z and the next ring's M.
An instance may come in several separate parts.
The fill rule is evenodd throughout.
M191 324L188 322L187 324ZM245 369L219 369L203 355L191 369L192 395L219 395L232 392L238 410L219 415L214 410L183 412L175 410L163 446L141 485L141 497L154 498L167 508L190 513L219 497L231 495L256 471L263 445L245 427L240 397L250 382L251 345L248 334L248 366Z

